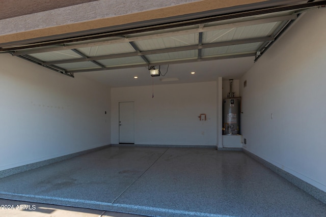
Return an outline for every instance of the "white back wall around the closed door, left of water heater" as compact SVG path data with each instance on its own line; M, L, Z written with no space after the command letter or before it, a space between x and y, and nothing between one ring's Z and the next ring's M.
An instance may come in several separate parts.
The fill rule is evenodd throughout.
M216 81L112 88L112 143L119 143L119 102L134 101L135 144L216 145ZM199 115L206 113L207 120Z

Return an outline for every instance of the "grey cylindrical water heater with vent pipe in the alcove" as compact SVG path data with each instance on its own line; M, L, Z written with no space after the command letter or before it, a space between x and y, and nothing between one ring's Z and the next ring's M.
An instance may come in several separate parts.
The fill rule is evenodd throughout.
M232 92L232 79L230 79L230 92L228 99L223 101L223 135L237 135L239 131L240 107L239 98L234 98Z

